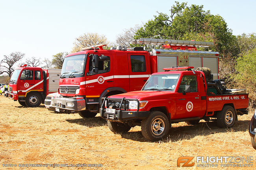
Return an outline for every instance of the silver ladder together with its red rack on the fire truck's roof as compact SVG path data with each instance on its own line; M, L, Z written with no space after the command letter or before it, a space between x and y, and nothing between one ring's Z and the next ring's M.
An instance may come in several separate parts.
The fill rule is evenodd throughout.
M195 49L198 47L212 47L213 42L201 41L186 41L186 40L168 40L168 39L155 39L155 38L140 38L133 40L132 44L148 44L148 45L162 45L163 48L172 49Z

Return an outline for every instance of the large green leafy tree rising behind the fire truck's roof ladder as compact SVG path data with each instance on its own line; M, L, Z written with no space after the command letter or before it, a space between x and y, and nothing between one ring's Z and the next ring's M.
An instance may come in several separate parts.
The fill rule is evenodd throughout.
M184 2L176 2L170 14L158 13L137 31L134 38L214 42L215 46L211 49L219 51L220 56L224 57L233 56L233 47L237 42L221 16L204 11L203 5L187 6Z

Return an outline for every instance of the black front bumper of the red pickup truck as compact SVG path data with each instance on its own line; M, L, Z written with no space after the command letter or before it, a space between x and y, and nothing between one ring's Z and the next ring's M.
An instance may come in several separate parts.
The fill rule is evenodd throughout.
M115 113L106 113L105 108L100 108L100 116L109 121L125 122L134 119L146 119L150 112L115 110Z

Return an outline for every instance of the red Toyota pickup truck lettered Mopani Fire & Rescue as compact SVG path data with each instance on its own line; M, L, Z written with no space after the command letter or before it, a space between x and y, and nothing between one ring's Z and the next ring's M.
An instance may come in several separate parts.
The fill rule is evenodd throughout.
M126 133L141 126L152 141L165 137L172 123L196 124L217 119L219 127L232 127L237 115L248 114L246 90L227 90L221 80L209 79L193 67L165 69L153 73L141 91L102 98L101 117L114 133ZM210 119L213 118L213 119Z

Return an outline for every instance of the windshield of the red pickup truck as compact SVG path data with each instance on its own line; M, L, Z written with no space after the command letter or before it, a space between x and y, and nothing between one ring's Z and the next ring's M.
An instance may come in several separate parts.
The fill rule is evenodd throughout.
M178 74L152 75L142 90L174 91L179 77Z

